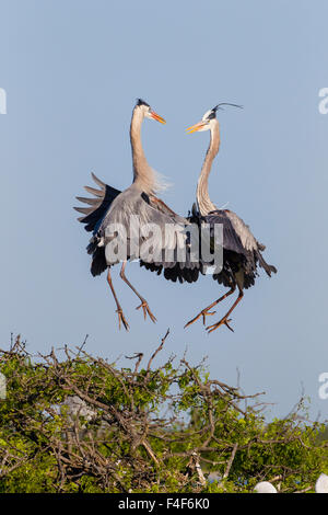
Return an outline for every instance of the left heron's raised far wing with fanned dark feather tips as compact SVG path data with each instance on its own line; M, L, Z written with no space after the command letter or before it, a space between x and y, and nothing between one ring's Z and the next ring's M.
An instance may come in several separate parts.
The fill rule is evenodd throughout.
M86 224L85 230L93 231L95 233L98 230L113 201L121 192L115 187L108 186L108 184L105 184L94 173L91 173L91 175L101 190L95 190L91 186L84 186L87 193L94 195L94 198L77 197L77 199L90 205L91 207L74 207L74 209L84 215L78 218L78 220L82 224Z

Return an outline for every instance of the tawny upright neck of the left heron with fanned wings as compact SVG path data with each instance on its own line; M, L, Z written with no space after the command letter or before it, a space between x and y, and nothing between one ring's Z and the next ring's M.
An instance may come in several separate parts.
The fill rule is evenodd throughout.
M148 164L141 142L141 125L143 114L134 108L130 127L132 147L133 183L143 192L151 194L155 190L155 175Z

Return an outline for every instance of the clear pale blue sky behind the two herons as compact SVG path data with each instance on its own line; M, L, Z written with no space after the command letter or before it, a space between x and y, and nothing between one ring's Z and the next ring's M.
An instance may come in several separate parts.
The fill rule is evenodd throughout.
M79 345L87 333L89 352L125 364L125 355L150 354L171 328L162 359L187 347L192 364L208 356L213 378L235 385L238 369L244 390L266 391L274 414L286 414L304 388L313 416L327 415L318 397L328 371L328 115L318 111L328 87L327 2L2 0L0 11L1 346L11 332L33 353ZM114 270L126 333L105 276L90 275L74 196L91 171L130 185L137 96L167 121L145 121L143 145L174 184L163 198L183 215L209 141L185 128L219 102L244 105L219 114L211 197L250 225L279 274L246 291L234 333L184 330L222 295L210 277L175 285L129 265L154 325Z

